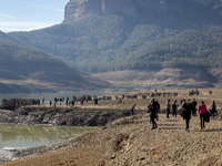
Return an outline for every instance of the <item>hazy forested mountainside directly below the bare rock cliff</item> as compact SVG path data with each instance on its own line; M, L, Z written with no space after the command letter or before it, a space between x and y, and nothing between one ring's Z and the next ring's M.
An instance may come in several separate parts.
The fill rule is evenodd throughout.
M222 68L221 6L167 0L165 7L167 13L137 9L137 20L92 14L9 35L84 72Z

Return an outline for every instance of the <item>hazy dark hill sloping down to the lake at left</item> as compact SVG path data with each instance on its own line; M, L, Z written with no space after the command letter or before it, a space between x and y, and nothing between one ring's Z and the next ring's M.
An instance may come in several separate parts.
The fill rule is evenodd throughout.
M90 90L98 85L108 84L0 32L0 93Z

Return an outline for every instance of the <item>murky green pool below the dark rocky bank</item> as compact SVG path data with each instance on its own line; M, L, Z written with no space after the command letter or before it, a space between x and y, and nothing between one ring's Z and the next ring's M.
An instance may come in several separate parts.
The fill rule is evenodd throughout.
M57 144L95 128L0 125L0 149L20 149Z

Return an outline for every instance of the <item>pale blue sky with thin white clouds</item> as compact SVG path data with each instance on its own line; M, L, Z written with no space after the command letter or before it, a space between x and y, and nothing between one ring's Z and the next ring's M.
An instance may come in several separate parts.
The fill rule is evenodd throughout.
M0 0L0 31L31 31L61 23L69 0Z

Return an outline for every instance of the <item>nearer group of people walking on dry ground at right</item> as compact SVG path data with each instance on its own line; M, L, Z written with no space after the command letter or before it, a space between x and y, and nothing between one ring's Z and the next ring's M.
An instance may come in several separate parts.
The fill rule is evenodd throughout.
M206 105L202 101L201 104L196 108L196 101L193 98L191 100L181 100L180 105L178 104L178 101L173 101L171 104L171 100L169 98L165 103L165 111L167 111L167 118L170 118L170 113L172 113L172 118L178 118L178 113L182 116L182 118L185 121L185 131L190 132L190 120L192 116L196 117L198 114L200 116L200 126L201 131L205 128L205 123L210 121L210 116L219 115L216 111L216 104L215 101L212 102L209 111L206 108ZM133 115L133 110L135 107L135 104L131 108L131 115ZM198 112L196 112L198 111ZM155 98L151 100L148 105L148 113L150 113L150 124L152 124L151 129L158 128L158 124L155 120L159 120L159 112L160 112L160 104Z

